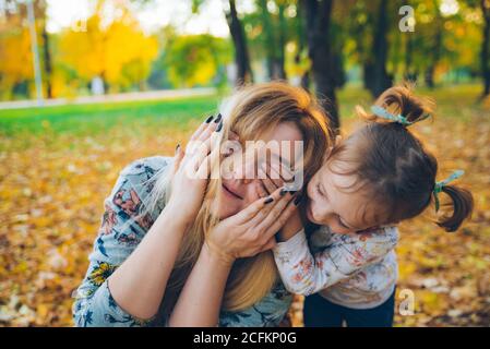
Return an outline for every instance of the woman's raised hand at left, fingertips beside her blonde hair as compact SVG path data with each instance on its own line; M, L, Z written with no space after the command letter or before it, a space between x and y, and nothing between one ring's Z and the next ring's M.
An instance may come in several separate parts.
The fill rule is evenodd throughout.
M204 191L210 180L211 158L219 151L217 132L223 128L220 115L207 118L191 136L183 151L177 146L174 161L171 193L167 206L176 218L192 224L203 203Z

